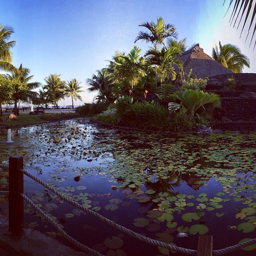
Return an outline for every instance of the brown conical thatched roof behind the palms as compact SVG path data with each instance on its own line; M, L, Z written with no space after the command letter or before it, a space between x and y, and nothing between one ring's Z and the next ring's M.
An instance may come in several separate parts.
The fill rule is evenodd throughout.
M222 74L233 74L232 71L222 66L216 60L204 53L204 49L199 47L199 44L183 52L178 57L184 62L184 75L187 76L192 68L192 74L197 78L205 78Z

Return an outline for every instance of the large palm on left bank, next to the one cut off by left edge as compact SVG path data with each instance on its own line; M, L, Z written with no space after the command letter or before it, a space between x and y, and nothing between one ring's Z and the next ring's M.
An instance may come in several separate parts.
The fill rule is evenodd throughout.
M18 68L20 74L13 72L12 75L8 75L10 79L14 79L17 81L14 84L14 93L13 93L13 100L14 100L14 114L18 115L18 107L17 102L18 100L30 102L36 101L38 99L38 93L33 92L32 90L38 88L40 86L39 82L29 82L34 76L30 76L30 70L28 68L23 68L22 64Z

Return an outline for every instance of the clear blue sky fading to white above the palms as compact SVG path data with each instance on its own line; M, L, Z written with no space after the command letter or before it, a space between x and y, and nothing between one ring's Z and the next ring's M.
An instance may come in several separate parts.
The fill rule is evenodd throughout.
M88 92L87 78L104 68L116 51L128 53L145 21L162 16L175 25L179 39L187 45L199 43L211 55L214 43L231 43L248 56L256 73L256 50L240 38L240 31L228 24L228 2L223 0L0 0L0 24L12 26L16 46L13 64L30 68L34 81L44 84L50 74L62 80L81 82L83 102L92 102L96 93ZM224 17L225 16L225 17ZM144 29L146 31L146 29ZM150 44L138 41L147 50ZM76 105L83 102L77 101ZM71 105L66 98L60 105Z

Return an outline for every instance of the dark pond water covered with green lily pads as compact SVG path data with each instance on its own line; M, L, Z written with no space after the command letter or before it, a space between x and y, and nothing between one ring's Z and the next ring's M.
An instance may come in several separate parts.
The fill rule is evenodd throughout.
M12 129L12 144L1 143L6 138L7 130L1 129L2 162L24 156L25 169L38 178L150 238L197 249L199 234L210 234L216 250L256 237L255 132L174 137L100 128L81 118ZM168 255L84 215L30 178L24 180L24 192L33 202L102 254ZM0 170L0 190L6 189L8 173ZM0 214L8 214L6 196L0 196ZM66 243L26 204L25 221ZM255 247L226 255L255 255Z

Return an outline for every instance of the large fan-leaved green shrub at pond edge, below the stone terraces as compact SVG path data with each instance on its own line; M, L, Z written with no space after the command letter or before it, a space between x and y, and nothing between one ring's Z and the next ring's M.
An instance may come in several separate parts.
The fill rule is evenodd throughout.
M185 90L175 92L173 96L178 102L170 102L168 108L171 114L174 113L175 122L180 128L192 130L196 124L207 124L212 110L220 107L220 97L217 94Z

